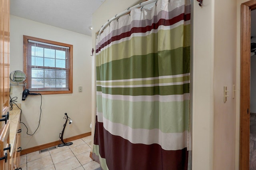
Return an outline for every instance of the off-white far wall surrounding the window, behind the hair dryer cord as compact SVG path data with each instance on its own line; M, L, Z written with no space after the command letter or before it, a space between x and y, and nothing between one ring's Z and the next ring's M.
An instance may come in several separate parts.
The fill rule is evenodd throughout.
M22 127L22 149L32 148L59 140L65 120L64 113L73 123L66 127L64 138L90 132L91 122L91 62L92 39L90 36L63 30L42 23L10 16L10 72L23 70L23 35L73 45L73 93L42 96L42 117L40 127L34 136L26 135ZM78 92L78 86L83 92ZM11 97L17 96L22 104L22 122L33 133L40 115L40 96L28 96L21 101L22 87L13 87Z

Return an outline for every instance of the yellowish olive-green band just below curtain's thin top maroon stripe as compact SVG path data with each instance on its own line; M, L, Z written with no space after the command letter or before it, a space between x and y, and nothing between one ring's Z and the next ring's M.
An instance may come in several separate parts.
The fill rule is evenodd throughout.
M100 57L96 61L96 66L110 62L112 60L120 60L123 58L129 58L130 56L146 55L149 53L156 53L158 51L174 50L180 47L189 47L190 38L185 36L183 39L183 33L190 34L190 25L180 25L172 30L159 30L158 33L151 33L147 36L134 36L129 40L124 39L123 42L113 44L107 49L102 49L96 56ZM171 39L170 39L171 38ZM161 46L155 46L158 41L162 41ZM175 41L175 44L172 43ZM144 43L147 42L147 43ZM136 50L134 50L136 49ZM120 55L122 54L122 55ZM109 56L103 57L101 56ZM100 64L99 64L100 62Z

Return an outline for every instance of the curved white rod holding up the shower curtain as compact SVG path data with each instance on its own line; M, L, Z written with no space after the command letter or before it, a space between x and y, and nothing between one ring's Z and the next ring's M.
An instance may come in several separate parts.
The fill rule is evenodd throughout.
M102 33L102 31L105 29L105 27L110 24L111 21L115 20L116 18L119 18L120 16L123 16L124 14L127 14L129 13L132 9L135 9L135 8L140 8L144 5L147 5L147 4L151 4L153 2L157 2L157 0L147 0L145 2L140 2L140 4L137 4L135 6L132 6L130 8L128 8L127 10L119 13L119 14L116 14L113 18L111 18L110 20L108 20L101 28L100 28L100 31L99 31L99 34L100 35Z

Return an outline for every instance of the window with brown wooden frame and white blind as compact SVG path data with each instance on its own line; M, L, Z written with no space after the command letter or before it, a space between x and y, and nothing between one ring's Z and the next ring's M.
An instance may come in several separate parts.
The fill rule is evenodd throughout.
M23 36L27 88L41 94L72 93L73 45Z

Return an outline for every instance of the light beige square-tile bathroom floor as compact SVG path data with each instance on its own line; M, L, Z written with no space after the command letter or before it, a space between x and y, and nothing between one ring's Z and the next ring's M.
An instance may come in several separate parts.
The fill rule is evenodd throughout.
M90 158L91 136L72 141L70 146L32 152L20 157L22 170L95 170L100 167Z

